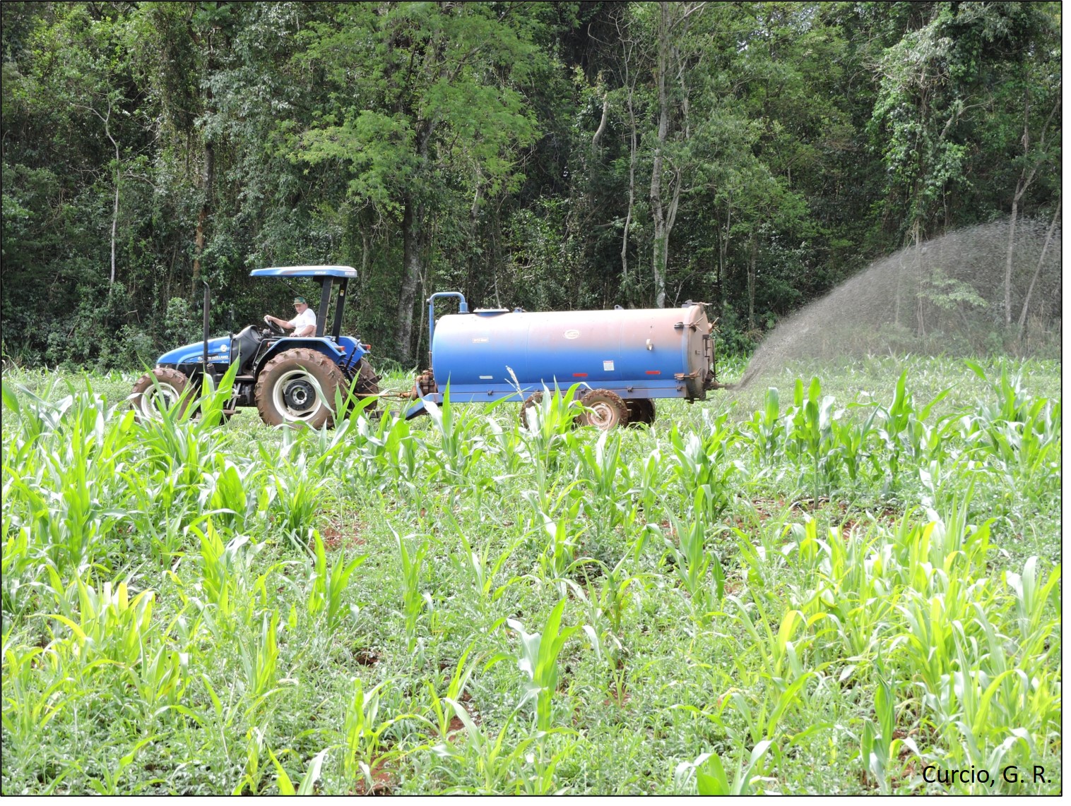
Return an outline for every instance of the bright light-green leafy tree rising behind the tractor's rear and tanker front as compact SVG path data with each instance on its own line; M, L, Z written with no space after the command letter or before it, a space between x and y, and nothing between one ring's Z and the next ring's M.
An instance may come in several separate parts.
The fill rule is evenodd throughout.
M483 197L510 187L516 150L536 137L514 82L541 58L523 35L539 10L390 3L332 12L303 32L297 58L322 72L329 103L292 136L292 155L345 166L349 196L399 226L395 343L408 363L433 204L458 185Z

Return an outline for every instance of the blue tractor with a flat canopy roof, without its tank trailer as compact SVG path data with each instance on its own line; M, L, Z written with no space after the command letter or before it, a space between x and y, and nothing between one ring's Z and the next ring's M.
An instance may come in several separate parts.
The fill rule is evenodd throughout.
M153 417L161 404L169 405L196 396L206 375L218 381L235 364L237 375L226 414L239 406L256 406L269 425L331 425L335 393L357 399L379 394L379 378L368 363L369 346L360 337L343 336L342 317L346 286L358 276L348 265L295 265L255 269L253 277L308 278L320 284L316 333L296 337L265 320L231 336L209 338L209 291L205 287L205 337L179 347L156 360L156 367L134 384L131 404L141 417ZM328 315L334 295L334 315L328 332ZM186 390L191 394L183 396ZM369 404L373 408L375 402Z

